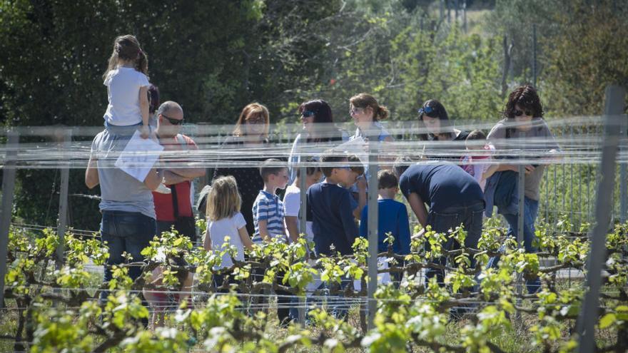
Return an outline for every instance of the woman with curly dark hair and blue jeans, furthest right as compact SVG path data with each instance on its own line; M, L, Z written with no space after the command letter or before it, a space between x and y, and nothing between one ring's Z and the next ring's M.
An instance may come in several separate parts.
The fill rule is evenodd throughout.
M517 155L522 155L522 149L527 150L525 159L539 158L542 155L557 153L559 146L554 140L554 135L543 119L543 107L534 87L530 85L520 86L508 96L506 107L503 111L503 119L491 129L487 140L495 146L499 152L517 150ZM503 153L503 152L502 152ZM515 158L515 155L506 155L505 158ZM517 157L518 158L518 157ZM517 195L516 178L518 165L502 163L497 168L496 175L487 181L485 195L487 210L492 213L492 205L497 205L497 212L504 215L508 222L508 235L517 237L518 213L517 203L520 195ZM526 163L525 165L525 195L523 217L523 241L526 252L536 252L535 222L539 211L540 185L545 171L545 165L540 163ZM507 173L510 173L508 176ZM508 181L514 180L514 181ZM505 187L505 183L510 183ZM492 189L492 190L490 190ZM510 197L502 198L500 190L512 190ZM506 195L509 196L509 195ZM529 292L538 290L538 279L529 280L527 287Z

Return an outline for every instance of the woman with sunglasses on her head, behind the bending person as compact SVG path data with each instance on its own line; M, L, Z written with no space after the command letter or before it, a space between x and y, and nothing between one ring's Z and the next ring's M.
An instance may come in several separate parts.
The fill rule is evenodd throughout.
M440 150L440 152L427 153L427 157L435 159L460 160L462 152L465 150L465 140L469 135L468 131L461 131L452 126L445 106L435 99L425 101L419 113L419 138L424 141L449 141L452 143L426 145L426 150Z

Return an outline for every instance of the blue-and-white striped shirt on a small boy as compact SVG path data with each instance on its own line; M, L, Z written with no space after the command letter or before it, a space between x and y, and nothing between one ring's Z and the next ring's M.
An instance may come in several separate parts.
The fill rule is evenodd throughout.
M253 242L262 243L260 236L260 220L266 221L266 229L270 237L281 237L285 240L285 230L283 229L283 202L277 195L266 193L260 190L258 197L253 203L253 224L255 225L255 235Z

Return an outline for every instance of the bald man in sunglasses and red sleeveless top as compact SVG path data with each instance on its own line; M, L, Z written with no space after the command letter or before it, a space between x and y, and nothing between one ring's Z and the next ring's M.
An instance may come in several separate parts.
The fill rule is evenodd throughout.
M205 175L204 168L190 167L178 158L178 151L198 150L196 143L179 133L183 123L183 109L173 101L166 101L157 110L156 135L163 145L162 159L165 165L163 183L170 194L153 192L157 214L157 234L174 229L196 241L196 227L192 213L191 185L194 178ZM168 165L170 163L170 165Z

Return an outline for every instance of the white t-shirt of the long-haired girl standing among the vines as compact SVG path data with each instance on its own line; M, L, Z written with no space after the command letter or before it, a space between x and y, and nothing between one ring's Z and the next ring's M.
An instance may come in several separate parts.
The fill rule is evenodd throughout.
M229 244L238 248L238 253L234 258L239 261L244 260L244 245L240 240L239 229L246 226L246 221L242 213L236 213L231 218L223 218L222 220L209 221L207 225L209 236L211 237L211 248L213 250L223 250L225 237L230 237ZM221 267L230 267L233 265L229 254L223 255L223 265Z

